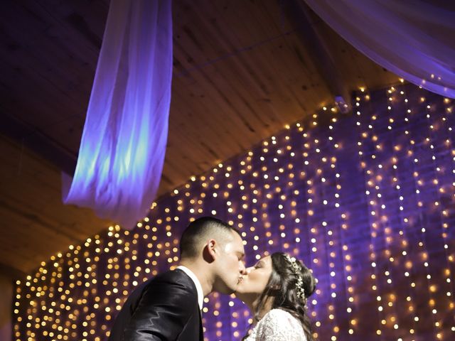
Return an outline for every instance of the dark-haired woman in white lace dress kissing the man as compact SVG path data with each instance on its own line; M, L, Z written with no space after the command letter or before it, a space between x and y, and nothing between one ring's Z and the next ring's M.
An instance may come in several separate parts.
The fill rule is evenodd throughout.
M237 286L235 296L254 314L246 341L313 341L306 300L316 279L301 261L275 252L260 259Z

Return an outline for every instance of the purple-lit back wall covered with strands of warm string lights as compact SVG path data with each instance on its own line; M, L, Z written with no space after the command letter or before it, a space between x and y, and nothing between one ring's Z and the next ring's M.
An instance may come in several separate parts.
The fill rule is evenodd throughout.
M152 205L131 232L72 246L18 281L15 340L105 340L129 291L176 266L189 220L239 227L247 261L285 250L319 279L319 340L453 340L454 102L413 85L292 124ZM240 340L235 298L204 303L207 340ZM52 334L51 334L52 333Z

